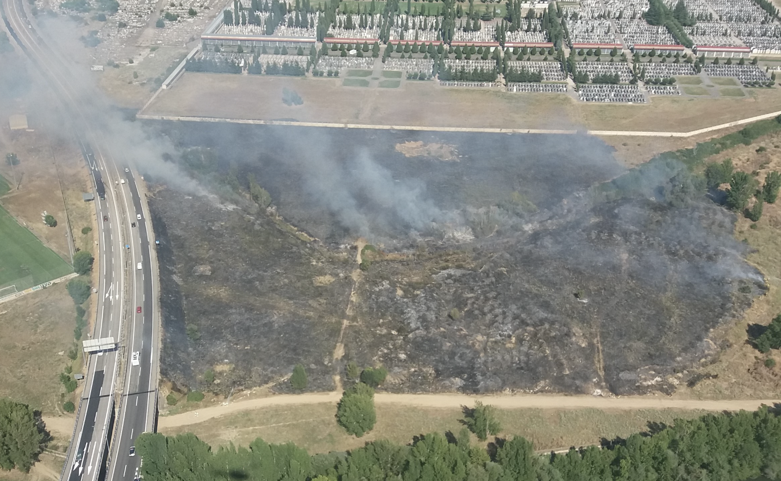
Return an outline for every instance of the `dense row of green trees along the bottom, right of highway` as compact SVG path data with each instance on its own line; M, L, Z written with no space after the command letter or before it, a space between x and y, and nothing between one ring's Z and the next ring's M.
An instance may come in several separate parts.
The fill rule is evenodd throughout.
M781 418L778 408L768 407L709 414L604 440L600 447L541 456L522 436L496 438L487 448L472 444L467 429L313 456L293 443L260 438L248 447L212 451L191 433L144 433L136 448L144 481L744 481L781 474Z

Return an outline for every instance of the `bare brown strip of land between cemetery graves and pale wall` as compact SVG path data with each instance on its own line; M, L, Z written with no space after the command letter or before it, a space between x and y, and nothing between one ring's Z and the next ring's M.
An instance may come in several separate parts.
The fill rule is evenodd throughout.
M304 105L282 103L292 88ZM247 92L253 92L248 95ZM405 82L392 91L341 87L341 79L185 73L144 111L151 115L380 125L688 131L781 110L779 89L751 98L654 98L648 105L597 105L565 94L508 94Z

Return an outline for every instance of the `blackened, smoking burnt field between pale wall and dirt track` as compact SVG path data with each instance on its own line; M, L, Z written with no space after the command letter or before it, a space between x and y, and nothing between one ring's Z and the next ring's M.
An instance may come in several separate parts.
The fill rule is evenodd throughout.
M670 392L765 292L685 169L625 173L593 137L161 127L234 186L160 180L151 201L180 386L215 369L208 389L284 390L301 362L330 390L355 361L386 366L387 390Z

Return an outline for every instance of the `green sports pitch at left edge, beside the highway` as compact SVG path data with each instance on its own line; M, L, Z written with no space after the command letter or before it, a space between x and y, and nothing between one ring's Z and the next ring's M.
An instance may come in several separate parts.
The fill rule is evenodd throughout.
M23 290L72 272L59 255L0 207L0 288L16 284L16 290Z

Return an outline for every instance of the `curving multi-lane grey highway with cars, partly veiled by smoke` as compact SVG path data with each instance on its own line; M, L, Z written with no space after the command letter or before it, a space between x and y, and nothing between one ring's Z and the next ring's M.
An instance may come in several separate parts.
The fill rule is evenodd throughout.
M106 115L107 104L73 75L58 42L38 30L26 4L0 0L2 28L59 99L96 194L101 182L105 187L105 196L95 198L99 282L91 336L119 342L118 349L85 355L87 376L62 479L137 479L141 459L132 448L139 434L155 429L157 408L159 284L148 206L130 169L134 159L114 152L109 132L116 129L103 128L115 121Z

